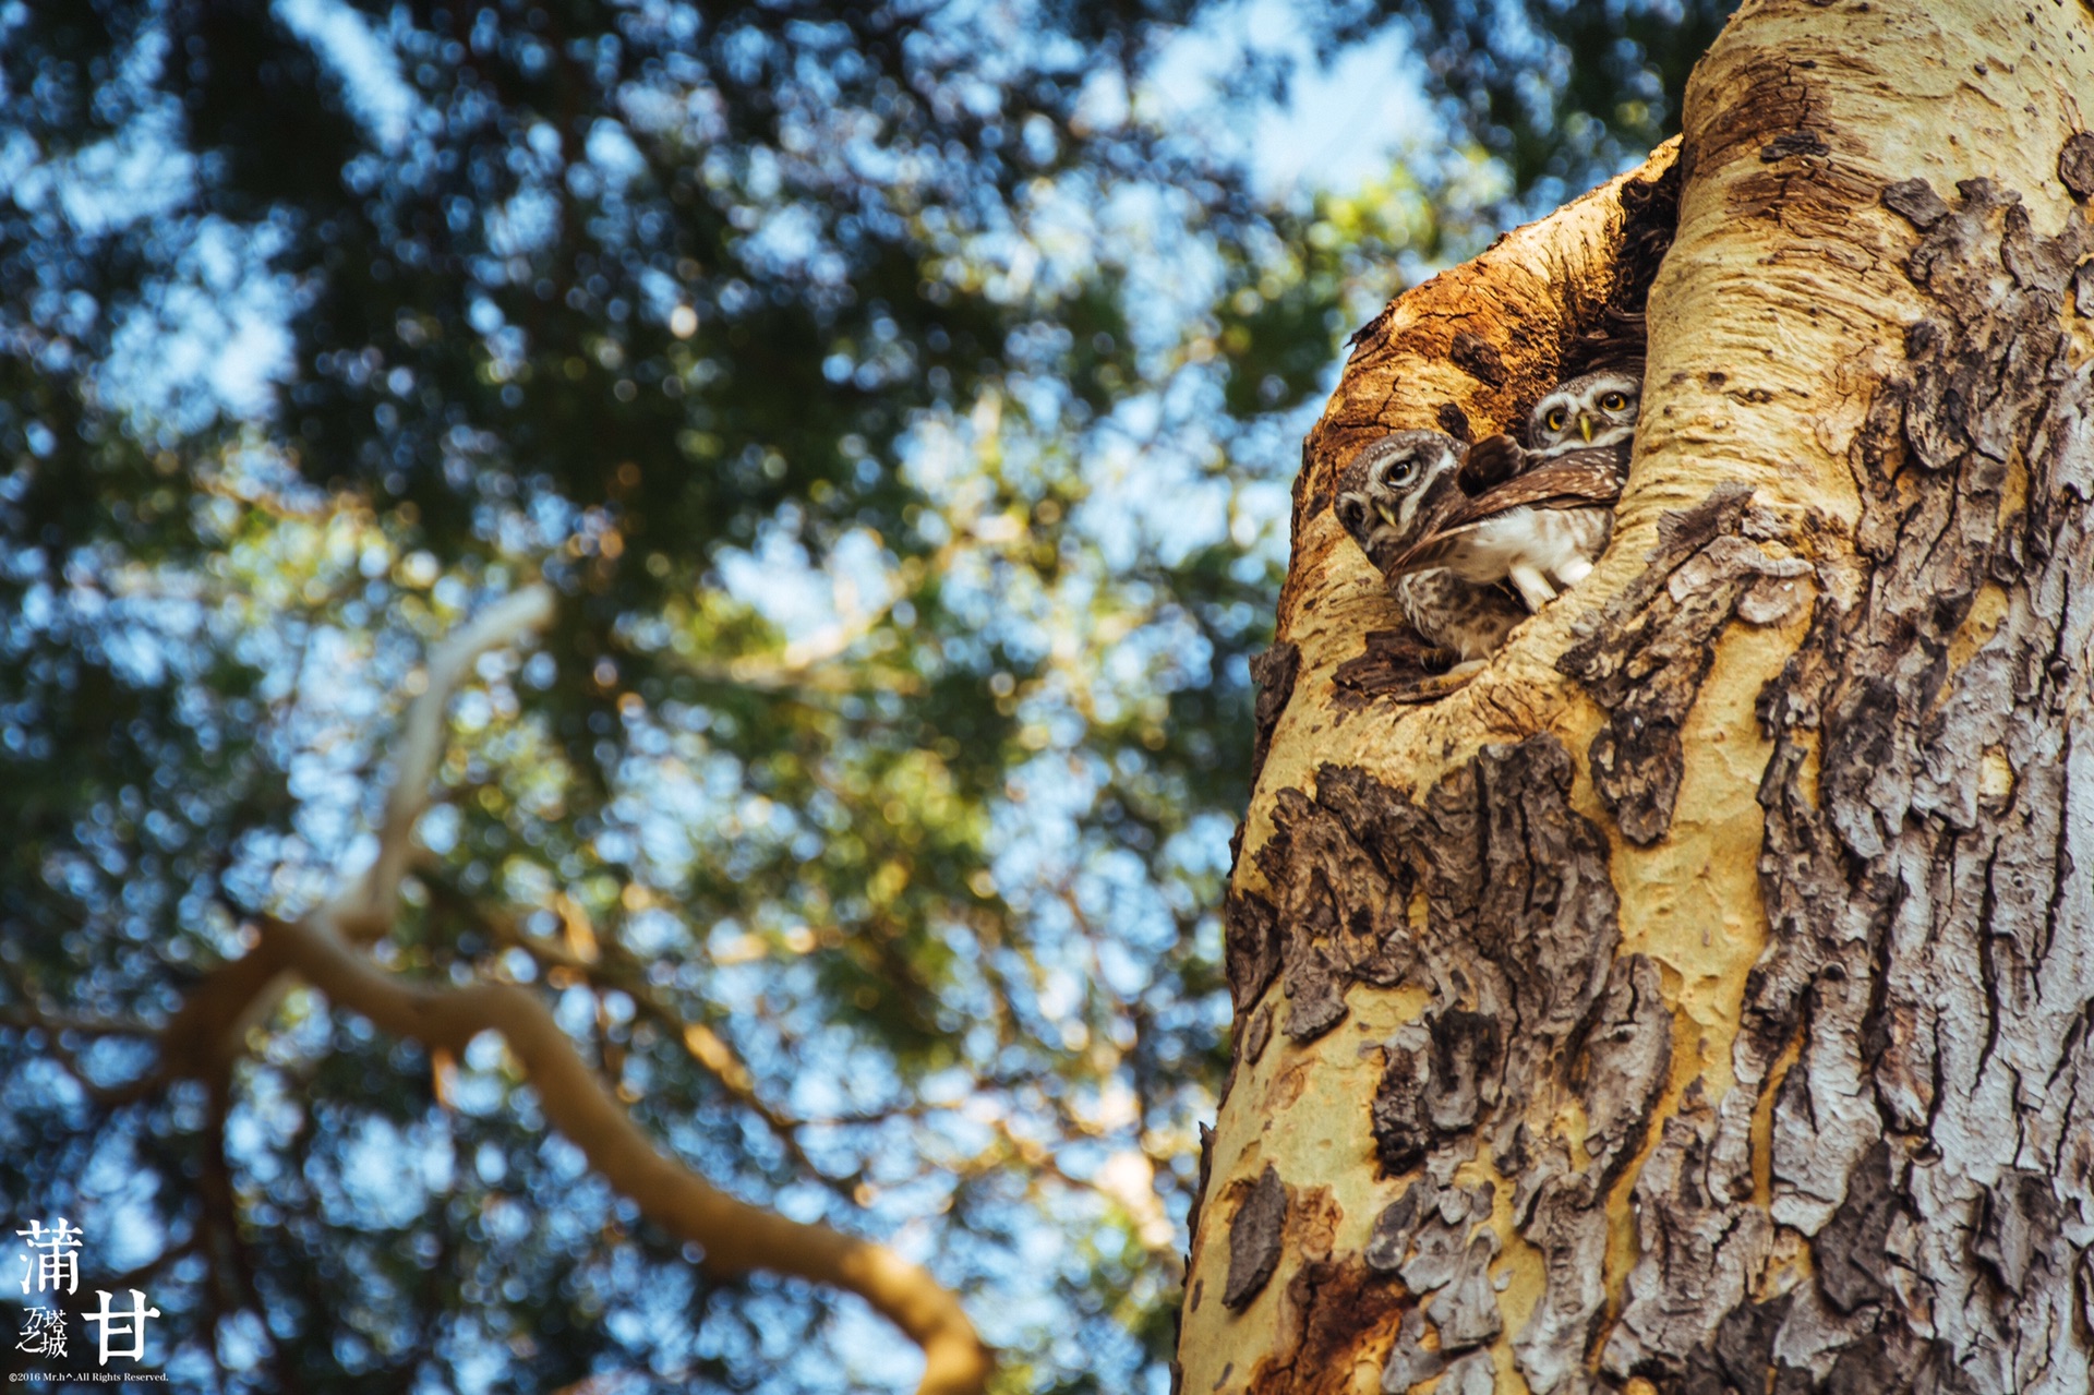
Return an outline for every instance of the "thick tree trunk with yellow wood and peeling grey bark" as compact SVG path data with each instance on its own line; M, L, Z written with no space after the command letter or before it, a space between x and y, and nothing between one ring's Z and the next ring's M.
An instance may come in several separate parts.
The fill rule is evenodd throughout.
M1677 157L1363 331L1181 1389L2094 1389L2086 113L2084 4L1746 4ZM1669 233L1608 555L1418 702L1338 469L1619 352Z

